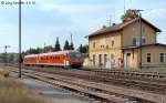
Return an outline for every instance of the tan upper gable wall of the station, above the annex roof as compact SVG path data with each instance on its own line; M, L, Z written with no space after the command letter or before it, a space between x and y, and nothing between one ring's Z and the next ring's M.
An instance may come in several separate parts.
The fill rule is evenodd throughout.
M139 45L139 37L141 23L137 21L123 30L123 47L131 47L133 38L137 38L137 45ZM145 44L156 43L155 30L144 22L142 22L142 38L145 38Z

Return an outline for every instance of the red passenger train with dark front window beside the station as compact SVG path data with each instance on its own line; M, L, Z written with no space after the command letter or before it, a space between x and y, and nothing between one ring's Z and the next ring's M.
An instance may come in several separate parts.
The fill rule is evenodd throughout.
M23 59L23 64L81 68L83 65L83 58L77 51L59 51L25 55Z

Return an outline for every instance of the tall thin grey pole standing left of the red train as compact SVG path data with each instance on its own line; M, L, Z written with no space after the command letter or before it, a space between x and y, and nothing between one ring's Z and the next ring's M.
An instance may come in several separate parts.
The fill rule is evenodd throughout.
M19 0L19 78L21 78L21 0Z

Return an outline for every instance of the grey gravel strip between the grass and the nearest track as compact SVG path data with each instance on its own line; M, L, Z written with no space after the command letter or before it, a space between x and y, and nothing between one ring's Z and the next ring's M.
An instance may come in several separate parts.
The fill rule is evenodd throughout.
M18 74L11 73L10 75L17 76ZM23 76L21 80L19 79L19 82L23 83L30 90L49 100L49 103L101 103L93 99L89 99L87 96L80 95L61 87L52 86L44 82L35 81L29 78Z

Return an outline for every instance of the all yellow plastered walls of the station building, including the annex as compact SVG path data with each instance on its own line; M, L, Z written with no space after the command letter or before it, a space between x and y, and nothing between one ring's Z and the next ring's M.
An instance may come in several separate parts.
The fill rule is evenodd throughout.
M156 31L142 22L142 38L145 39L145 44L155 44L156 43ZM122 51L122 48L135 47L133 45L133 38L136 38L136 45L139 45L141 39L141 23L137 21L124 28L120 32L112 32L105 34L93 35L89 38L89 53L91 64L95 66L100 65L100 56L102 56L102 63L104 68L128 68L128 62L126 59L129 56L129 68L138 69L139 68L139 49L128 49ZM114 44L113 41L114 40ZM143 44L144 45L144 44ZM153 53L153 61L147 63L146 53ZM153 66L153 65L165 65L165 63L159 62L159 52L166 53L165 47L146 47L142 50L142 64L143 66ZM114 54L114 59L112 59ZM104 61L104 55L106 55L106 61ZM94 59L95 56L95 59ZM123 62L121 62L123 61ZM127 60L128 61L128 60ZM165 60L166 61L166 60ZM106 63L105 63L106 62Z

